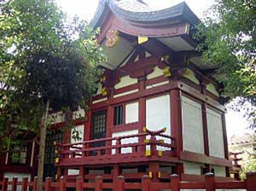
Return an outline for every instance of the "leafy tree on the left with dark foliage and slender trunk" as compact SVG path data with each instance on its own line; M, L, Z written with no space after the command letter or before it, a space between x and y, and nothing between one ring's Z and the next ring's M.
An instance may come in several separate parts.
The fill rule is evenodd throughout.
M53 0L6 0L0 5L0 138L8 143L7 137L20 129L40 135L42 190L49 108L85 106L105 57L87 22L68 20Z

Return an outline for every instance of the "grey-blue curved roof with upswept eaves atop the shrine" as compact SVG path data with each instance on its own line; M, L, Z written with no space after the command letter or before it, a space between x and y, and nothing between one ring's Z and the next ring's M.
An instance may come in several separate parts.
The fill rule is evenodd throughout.
M131 0L132 1L132 0ZM189 9L187 3L178 3L175 6L166 9L154 10L146 7L144 3L137 2L133 6L127 6L127 0L123 3L125 6L122 6L122 1L116 0L100 0L98 7L96 9L96 14L93 19L90 21L90 26L98 26L99 21L101 20L106 10L109 8L113 14L122 17L125 20L131 20L133 22L155 22L160 20L169 20L172 18L183 17L185 20L188 20L190 25L196 25L200 22L198 17ZM134 0L133 0L134 3Z

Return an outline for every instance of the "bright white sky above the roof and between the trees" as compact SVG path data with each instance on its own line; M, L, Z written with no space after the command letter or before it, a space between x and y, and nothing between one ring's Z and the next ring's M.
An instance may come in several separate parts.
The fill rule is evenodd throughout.
M98 0L55 0L61 9L70 16L79 15L79 17L90 21L93 17ZM200 18L203 18L206 10L211 6L213 0L184 0L189 8ZM165 9L183 2L183 0L144 0L150 6L156 9ZM228 136L241 135L247 127L247 120L243 118L241 113L228 111L226 114L226 126Z

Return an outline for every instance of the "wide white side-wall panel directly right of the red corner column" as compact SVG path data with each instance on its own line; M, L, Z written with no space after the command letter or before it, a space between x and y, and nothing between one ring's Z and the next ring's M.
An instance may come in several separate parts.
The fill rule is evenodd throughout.
M183 150L204 153L201 103L182 96Z

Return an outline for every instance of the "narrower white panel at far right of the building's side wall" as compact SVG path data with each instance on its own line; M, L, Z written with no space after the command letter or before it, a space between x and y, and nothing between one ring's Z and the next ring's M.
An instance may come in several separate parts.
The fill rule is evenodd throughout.
M224 139L221 114L207 108L207 127L210 156L224 158Z

